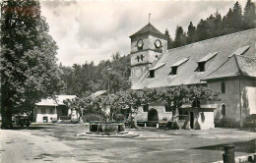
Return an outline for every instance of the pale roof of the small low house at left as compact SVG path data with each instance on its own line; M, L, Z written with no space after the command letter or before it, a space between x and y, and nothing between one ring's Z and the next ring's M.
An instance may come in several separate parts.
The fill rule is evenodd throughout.
M48 97L46 99L41 99L40 102L35 103L37 106L59 106L59 105L65 105L63 103L64 100L67 99L74 99L76 98L76 95L55 95L55 99Z

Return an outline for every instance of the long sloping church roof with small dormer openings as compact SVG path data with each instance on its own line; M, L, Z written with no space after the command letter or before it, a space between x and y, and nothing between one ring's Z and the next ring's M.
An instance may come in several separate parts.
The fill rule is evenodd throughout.
M240 53L239 56L235 55L228 59L228 56L244 46L250 47ZM177 75L169 75L171 72L171 66L183 58L189 58L189 60L178 67ZM229 63L233 62L232 60L235 58L237 59L237 66ZM151 88L180 84L205 83L206 81L202 80L206 77L210 78L209 75L217 71L220 67L224 67L225 63L227 64L225 67L229 67L228 69L232 72L230 74L226 74L228 76L238 76L239 74L234 73L236 72L236 69L243 71L243 74L254 76L254 68L256 67L254 62L255 58L256 28L252 28L169 49L162 53L160 59L156 64L154 64L156 67L161 63L165 63L165 65L160 67L160 69L155 70L155 78L149 79L149 72L147 72L139 81L133 83L132 88L143 89L145 87ZM198 72L198 62L203 59L207 60L205 71Z

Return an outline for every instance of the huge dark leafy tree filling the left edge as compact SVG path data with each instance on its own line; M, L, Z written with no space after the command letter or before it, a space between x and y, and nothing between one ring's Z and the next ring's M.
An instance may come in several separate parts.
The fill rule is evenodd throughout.
M12 115L32 113L40 98L57 93L63 82L56 64L56 42L40 16L37 0L2 3L1 114L2 129Z

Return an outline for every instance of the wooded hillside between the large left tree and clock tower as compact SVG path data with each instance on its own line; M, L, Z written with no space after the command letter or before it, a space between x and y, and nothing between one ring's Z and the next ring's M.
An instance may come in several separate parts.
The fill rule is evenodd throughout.
M112 60L94 62L72 67L60 65L61 79L65 82L65 94L88 96L96 90L107 90L115 93L130 87L130 57L120 53L112 55Z

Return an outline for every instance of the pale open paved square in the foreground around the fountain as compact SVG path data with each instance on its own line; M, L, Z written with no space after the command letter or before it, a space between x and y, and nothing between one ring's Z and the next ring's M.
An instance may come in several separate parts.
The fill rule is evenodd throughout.
M223 144L233 142L235 156L251 152L256 133L248 130L128 130L137 137L77 137L89 127L35 126L0 130L2 163L23 162L213 162L222 160Z

